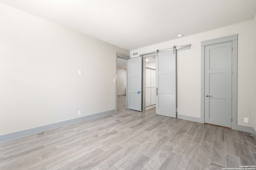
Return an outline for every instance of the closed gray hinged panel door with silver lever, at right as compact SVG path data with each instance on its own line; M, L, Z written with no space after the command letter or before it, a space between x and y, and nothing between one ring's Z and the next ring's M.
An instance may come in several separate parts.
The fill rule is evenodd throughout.
M205 46L204 122L232 127L232 42Z

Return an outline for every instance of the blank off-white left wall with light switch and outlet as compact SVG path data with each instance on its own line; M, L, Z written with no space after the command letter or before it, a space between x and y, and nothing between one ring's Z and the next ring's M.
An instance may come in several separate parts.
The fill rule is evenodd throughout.
M2 3L0 37L0 135L115 109L129 51Z

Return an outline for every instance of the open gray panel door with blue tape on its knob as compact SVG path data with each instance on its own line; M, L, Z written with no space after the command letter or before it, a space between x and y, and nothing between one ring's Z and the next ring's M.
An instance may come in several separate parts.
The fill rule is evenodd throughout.
M128 60L128 109L142 111L142 58Z

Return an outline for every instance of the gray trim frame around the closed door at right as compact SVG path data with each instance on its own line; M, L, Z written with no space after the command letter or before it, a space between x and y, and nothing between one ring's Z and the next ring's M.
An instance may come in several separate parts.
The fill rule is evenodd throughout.
M201 123L204 123L204 49L207 45L232 42L232 129L237 129L237 40L238 34L201 41Z

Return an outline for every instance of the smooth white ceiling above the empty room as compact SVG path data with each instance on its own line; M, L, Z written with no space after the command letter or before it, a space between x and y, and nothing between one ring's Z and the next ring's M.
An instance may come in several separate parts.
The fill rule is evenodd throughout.
M0 0L133 50L252 20L256 0Z

